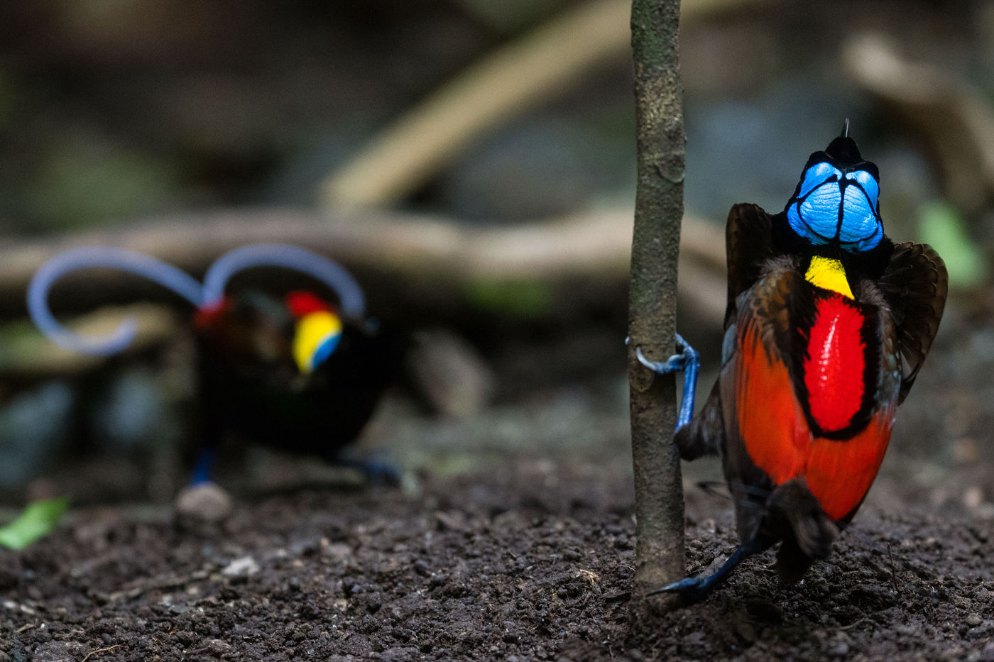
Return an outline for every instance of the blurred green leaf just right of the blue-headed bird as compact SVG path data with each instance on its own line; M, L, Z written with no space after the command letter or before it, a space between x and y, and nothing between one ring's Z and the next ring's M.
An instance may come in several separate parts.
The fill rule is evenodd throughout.
M987 278L987 262L951 205L928 203L918 211L918 218L921 241L935 248L942 257L949 272L950 287L976 287Z

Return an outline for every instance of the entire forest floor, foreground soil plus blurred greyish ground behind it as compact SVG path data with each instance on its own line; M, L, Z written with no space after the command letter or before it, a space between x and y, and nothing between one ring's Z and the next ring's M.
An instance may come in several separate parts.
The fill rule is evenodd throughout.
M236 498L220 524L168 503L78 507L0 552L0 662L994 660L994 462L978 441L990 366L970 359L992 334L950 327L853 530L798 585L779 585L766 553L705 601L629 629L616 379L461 422L389 402L367 441L419 467L404 489L269 458L282 478L254 488L221 467ZM696 484L720 475L714 462L685 466L688 571L708 572L736 545L731 507Z

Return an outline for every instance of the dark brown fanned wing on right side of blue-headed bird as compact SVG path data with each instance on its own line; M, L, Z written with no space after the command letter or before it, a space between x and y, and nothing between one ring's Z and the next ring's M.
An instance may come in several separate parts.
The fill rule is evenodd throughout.
M926 244L898 244L877 283L898 328L898 347L904 360L901 404L911 391L925 355L938 331L949 276L945 263Z

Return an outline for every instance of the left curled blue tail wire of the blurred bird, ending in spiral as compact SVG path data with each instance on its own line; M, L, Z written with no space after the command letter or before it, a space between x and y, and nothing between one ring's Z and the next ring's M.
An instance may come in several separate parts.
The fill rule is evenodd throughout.
M111 247L74 248L60 253L43 264L31 279L28 285L28 311L38 328L53 342L83 354L116 354L131 344L138 327L134 319L128 318L109 334L86 337L73 333L56 320L49 310L49 290L59 278L84 268L121 269L168 287L197 307L204 302L204 288L196 278L155 257Z

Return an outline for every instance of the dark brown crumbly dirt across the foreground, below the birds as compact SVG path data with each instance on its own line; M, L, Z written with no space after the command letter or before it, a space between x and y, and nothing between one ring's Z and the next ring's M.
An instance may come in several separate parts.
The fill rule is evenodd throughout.
M734 532L723 500L688 506L696 571ZM802 584L760 557L636 632L631 512L625 476L544 460L242 500L213 529L89 509L0 554L0 661L994 660L994 526L958 506L868 507Z

